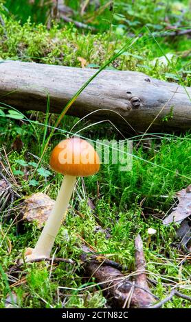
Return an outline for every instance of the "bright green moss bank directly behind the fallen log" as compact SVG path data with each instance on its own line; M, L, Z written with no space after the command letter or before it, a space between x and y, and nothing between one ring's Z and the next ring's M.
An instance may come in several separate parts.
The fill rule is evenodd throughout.
M23 25L5 16L3 19L5 26L0 25L0 36L3 39L0 42L0 57L3 60L12 59L80 67L78 57L82 57L89 64L101 66L107 58L111 58L130 40L126 36L112 40L109 34L82 34L72 25L67 25L62 29L58 25L53 25L50 30L47 30L45 25L31 23L30 18ZM168 53L169 46L166 46L164 39L157 38L157 40L164 53ZM181 40L180 45L182 43L184 45L182 51L189 49L190 40L187 42ZM107 48L109 55L106 56ZM189 73L182 72L182 70L189 69L188 58L181 58L180 51L179 49L179 53L176 53L171 65L153 64L153 59L163 53L153 38L144 36L128 53L117 58L113 66L117 69L142 71L150 76L171 81L174 81L175 73L178 73L179 80L189 85ZM179 57L181 59L178 59ZM169 75L172 77L170 78Z

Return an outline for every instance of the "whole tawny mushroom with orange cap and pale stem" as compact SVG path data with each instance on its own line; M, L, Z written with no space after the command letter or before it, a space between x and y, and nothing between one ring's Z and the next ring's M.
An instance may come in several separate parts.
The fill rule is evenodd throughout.
M97 173L100 169L98 153L86 140L80 138L61 141L53 149L49 164L54 171L62 173L65 177L41 236L32 253L26 257L29 260L50 257L54 240L74 190L76 177L87 177Z

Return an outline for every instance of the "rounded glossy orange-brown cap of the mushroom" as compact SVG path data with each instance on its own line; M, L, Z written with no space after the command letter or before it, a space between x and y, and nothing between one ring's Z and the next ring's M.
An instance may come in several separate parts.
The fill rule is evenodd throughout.
M63 175L87 177L100 169L100 158L86 140L69 138L54 147L49 164Z

